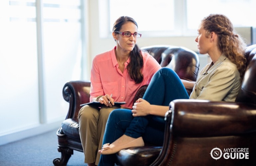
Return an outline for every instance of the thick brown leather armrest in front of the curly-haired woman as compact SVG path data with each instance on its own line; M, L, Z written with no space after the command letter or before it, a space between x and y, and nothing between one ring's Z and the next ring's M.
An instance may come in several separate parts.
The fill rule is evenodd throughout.
M183 137L225 136L256 130L256 105L207 100L174 100L170 132Z

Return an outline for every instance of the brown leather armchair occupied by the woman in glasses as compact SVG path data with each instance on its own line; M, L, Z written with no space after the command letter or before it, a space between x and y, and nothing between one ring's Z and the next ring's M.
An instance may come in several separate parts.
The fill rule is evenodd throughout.
M172 68L180 78L195 81L199 68L198 55L185 47L153 45L142 48L148 51L162 67ZM147 85L141 87L134 101L143 97ZM191 93L191 89L187 89ZM90 81L70 81L63 87L64 100L69 102L66 119L57 131L58 151L61 158L53 160L54 165L66 165L73 150L83 152L78 124L80 104L89 102ZM158 152L159 154L159 152Z

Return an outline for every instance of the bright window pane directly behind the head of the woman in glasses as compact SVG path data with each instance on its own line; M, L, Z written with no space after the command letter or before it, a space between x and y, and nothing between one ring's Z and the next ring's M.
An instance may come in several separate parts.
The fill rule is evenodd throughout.
M109 6L107 10L106 6ZM147 33L154 35L152 32L156 31L166 35L176 28L174 0L99 0L99 12L100 37L112 36L113 24L120 16L136 20L138 31L143 32L143 36L147 36ZM106 25L109 27L107 30Z

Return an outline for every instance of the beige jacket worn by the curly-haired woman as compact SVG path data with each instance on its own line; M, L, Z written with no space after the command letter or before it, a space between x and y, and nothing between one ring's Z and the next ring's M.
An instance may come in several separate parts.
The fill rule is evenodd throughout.
M190 99L234 102L240 85L236 65L222 53L216 63L211 62L200 71Z

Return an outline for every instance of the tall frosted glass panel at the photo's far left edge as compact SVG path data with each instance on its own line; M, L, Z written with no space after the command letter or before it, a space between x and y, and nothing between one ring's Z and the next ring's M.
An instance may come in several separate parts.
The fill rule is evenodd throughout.
M0 12L1 135L39 123L39 92L36 2L1 0Z

